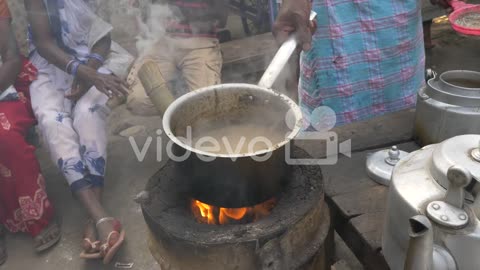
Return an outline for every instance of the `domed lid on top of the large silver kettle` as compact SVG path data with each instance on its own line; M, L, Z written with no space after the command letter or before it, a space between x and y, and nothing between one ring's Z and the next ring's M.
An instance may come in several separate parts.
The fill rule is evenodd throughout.
M480 135L462 135L435 146L430 161L430 173L442 187L448 188L447 171L460 165L480 181Z

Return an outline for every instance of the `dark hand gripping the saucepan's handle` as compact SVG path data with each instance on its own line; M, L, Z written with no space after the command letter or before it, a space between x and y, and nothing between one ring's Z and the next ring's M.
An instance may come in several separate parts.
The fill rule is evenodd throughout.
M293 32L297 33L304 50L310 50L315 24L310 22L311 0L284 0L277 20L273 25L273 34L279 42L284 42Z

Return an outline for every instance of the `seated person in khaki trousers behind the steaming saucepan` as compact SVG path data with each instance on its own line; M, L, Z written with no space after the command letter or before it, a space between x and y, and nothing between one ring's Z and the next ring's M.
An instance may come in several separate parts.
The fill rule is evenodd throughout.
M138 0L133 0L138 4ZM228 17L228 1L224 0L154 0L150 20L158 23L156 13L164 16L166 33L152 33L155 43L146 51L140 51L140 59L128 77L131 94L127 107L139 115L155 115L158 111L148 98L139 79L138 69L145 61L158 63L163 79L172 88L172 82L181 78L187 91L219 84L222 70L222 54L217 39L217 27L224 27ZM163 9L160 11L159 9ZM155 26L158 27L158 26ZM163 27L162 27L163 28ZM163 30L163 29L161 29ZM174 89L170 89L174 90ZM181 91L172 91L181 92Z

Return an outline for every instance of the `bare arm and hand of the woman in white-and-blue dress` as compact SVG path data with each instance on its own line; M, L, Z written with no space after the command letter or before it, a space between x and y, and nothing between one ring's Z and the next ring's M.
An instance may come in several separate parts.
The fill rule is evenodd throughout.
M48 62L67 72L66 66L72 59L72 56L57 46L50 30L49 19L43 1L25 0L25 7L38 53ZM109 42L109 37L100 40L100 42L94 46L94 50L107 54L110 50ZM90 82L95 85L99 91L109 96L111 96L111 92L119 96L128 93L126 84L122 80L113 75L99 74L97 70L90 65L95 66L94 63L80 65L76 74L77 80Z

